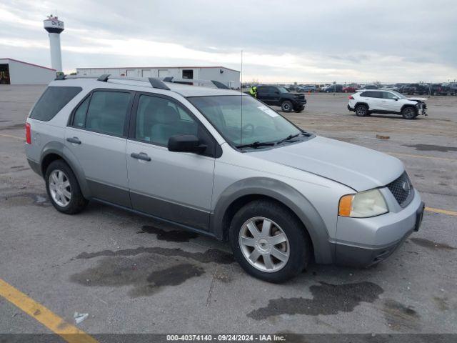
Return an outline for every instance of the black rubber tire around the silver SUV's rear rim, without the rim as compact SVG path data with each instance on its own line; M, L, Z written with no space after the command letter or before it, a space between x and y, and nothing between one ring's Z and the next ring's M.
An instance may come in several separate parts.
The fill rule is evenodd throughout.
M49 187L49 177L51 176L51 173L54 171L64 172L66 178L69 181L69 192L71 193L71 199L69 200L68 204L66 204L66 206L61 206L60 204L57 204L57 202L54 200L54 197L51 194L51 189ZM81 193L81 188L79 188L78 180L76 179L74 172L71 170L70 166L66 164L65 161L57 159L56 161L51 162L51 164L49 164L48 168L46 169L44 179L46 181L46 192L48 193L48 197L51 201L51 204L57 211L65 214L76 214L81 212L84 209L84 207L86 207L88 201L83 197L83 194Z

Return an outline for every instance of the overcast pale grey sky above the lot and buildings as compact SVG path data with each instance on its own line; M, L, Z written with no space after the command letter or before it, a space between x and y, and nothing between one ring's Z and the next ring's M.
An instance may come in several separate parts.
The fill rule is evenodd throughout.
M46 15L65 22L64 71L241 69L243 81L457 79L457 1L1 0L0 58L50 66Z

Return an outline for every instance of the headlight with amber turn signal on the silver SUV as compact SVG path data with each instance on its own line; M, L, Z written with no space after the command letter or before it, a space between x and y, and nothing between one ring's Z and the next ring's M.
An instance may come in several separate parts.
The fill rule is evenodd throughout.
M343 217L366 218L387 212L386 200L379 189L345 195L338 207L338 215Z

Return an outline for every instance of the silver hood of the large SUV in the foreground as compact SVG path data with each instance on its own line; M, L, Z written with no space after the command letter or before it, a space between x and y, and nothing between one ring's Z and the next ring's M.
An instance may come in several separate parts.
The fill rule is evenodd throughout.
M404 171L403 164L395 157L319 136L249 154L346 184L357 192L385 186Z

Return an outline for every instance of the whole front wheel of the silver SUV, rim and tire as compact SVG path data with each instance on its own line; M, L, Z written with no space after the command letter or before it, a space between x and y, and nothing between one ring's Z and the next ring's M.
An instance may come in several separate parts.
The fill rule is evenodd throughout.
M241 267L268 282L295 277L311 255L303 224L276 202L256 201L242 207L231 221L229 240Z

